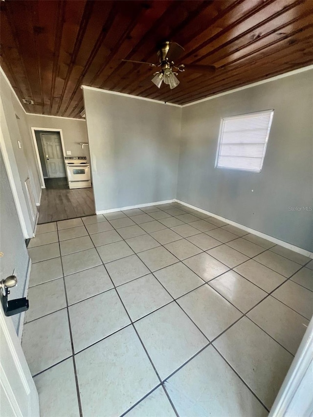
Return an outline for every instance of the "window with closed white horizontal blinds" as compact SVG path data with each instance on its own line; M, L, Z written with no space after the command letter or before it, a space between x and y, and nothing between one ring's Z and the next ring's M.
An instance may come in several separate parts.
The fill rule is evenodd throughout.
M261 172L274 110L222 119L216 168Z

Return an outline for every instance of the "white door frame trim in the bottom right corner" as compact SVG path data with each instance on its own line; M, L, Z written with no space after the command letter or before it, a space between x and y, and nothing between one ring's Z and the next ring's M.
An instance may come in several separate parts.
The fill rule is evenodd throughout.
M291 367L269 412L269 417L312 416L312 351L313 319L311 319L293 358ZM297 410L296 414L294 414L295 409Z

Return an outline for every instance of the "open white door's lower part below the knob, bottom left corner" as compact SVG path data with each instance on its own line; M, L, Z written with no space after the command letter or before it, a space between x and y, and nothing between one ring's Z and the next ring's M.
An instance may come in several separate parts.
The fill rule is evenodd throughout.
M39 399L35 383L11 318L4 315L1 304L0 416L39 417Z

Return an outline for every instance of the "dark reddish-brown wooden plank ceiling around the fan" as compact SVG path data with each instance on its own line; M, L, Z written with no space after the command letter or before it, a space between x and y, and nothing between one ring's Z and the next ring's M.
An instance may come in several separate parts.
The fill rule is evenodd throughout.
M81 85L186 104L313 63L312 0L5 0L1 66L27 112L80 117ZM151 82L156 45L185 48L170 90Z

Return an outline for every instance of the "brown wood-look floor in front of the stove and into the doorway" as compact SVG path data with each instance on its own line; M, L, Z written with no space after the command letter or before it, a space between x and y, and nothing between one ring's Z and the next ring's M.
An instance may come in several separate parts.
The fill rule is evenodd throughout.
M39 207L38 223L73 219L89 216L95 213L92 188L77 188L70 190L63 178L48 180L43 189Z

